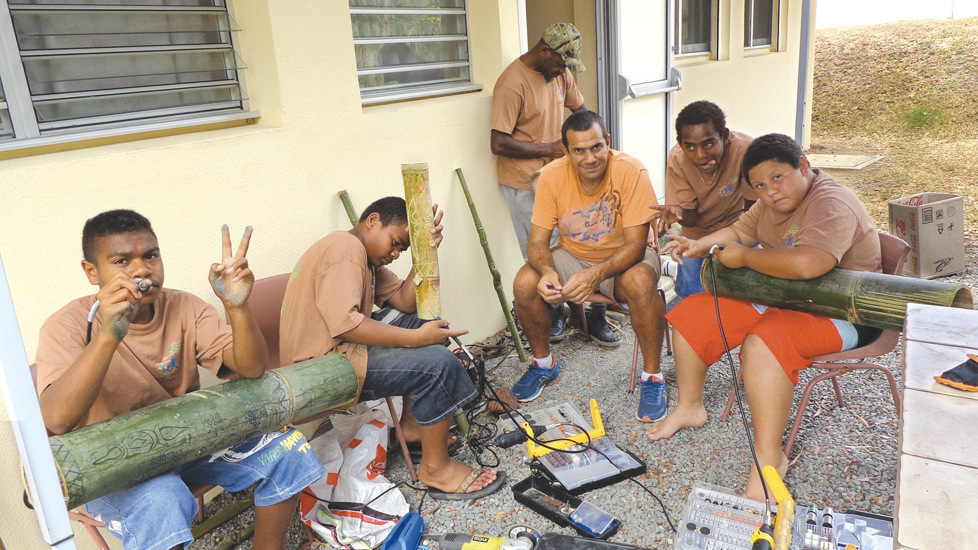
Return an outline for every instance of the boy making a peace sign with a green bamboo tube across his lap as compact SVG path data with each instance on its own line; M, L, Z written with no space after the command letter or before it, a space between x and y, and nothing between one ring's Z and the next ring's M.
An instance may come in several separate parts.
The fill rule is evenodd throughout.
M222 378L264 374L268 351L247 303L254 282L244 256L250 237L248 227L232 253L224 226L221 260L207 276L229 325L197 296L163 288L163 260L149 220L132 210L88 220L81 267L99 291L48 318L37 348L37 390L48 430L65 434L198 390L198 364ZM96 300L98 316L89 326ZM233 491L257 484L253 546L281 550L298 492L326 473L314 453L298 451L305 443L301 434L293 450L259 460L263 447L293 433L234 445L89 502L85 510L131 550L182 548L194 539L190 525L198 506L187 484Z

